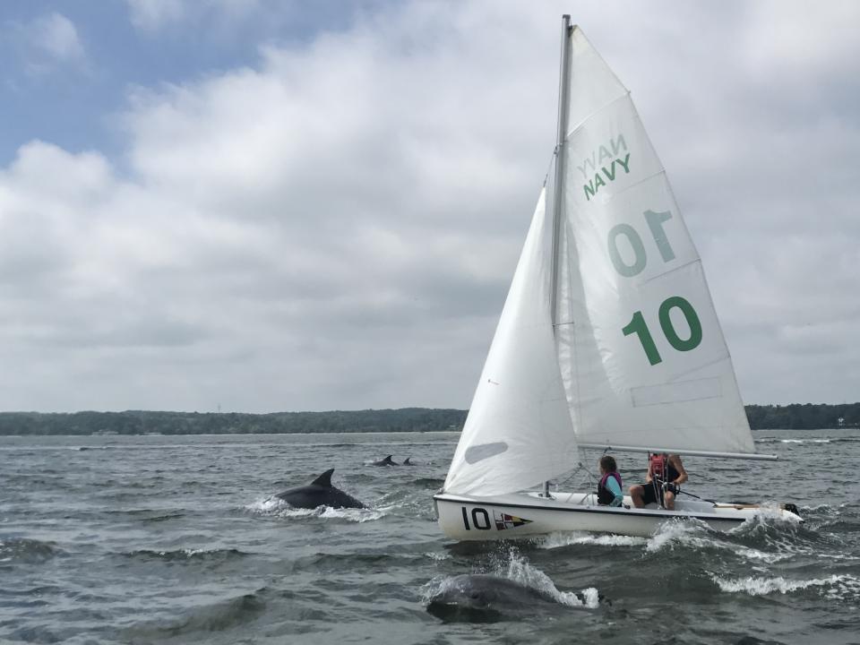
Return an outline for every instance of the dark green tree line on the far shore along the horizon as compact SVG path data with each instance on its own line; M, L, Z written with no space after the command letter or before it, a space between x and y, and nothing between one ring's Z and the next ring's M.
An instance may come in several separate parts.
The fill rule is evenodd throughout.
M0 412L3 434L259 434L460 431L467 410L366 409L331 412ZM753 430L860 426L860 403L748 405Z

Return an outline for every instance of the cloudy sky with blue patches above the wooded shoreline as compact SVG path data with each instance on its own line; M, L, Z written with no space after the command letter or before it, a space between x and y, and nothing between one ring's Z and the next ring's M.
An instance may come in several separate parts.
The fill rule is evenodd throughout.
M860 4L0 4L0 411L469 407L561 15L632 91L746 403L860 400Z

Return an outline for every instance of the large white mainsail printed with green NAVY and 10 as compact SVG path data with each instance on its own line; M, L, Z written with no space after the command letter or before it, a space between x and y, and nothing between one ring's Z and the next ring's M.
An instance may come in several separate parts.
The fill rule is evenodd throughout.
M572 31L556 340L581 443L753 452L699 254L629 92Z

